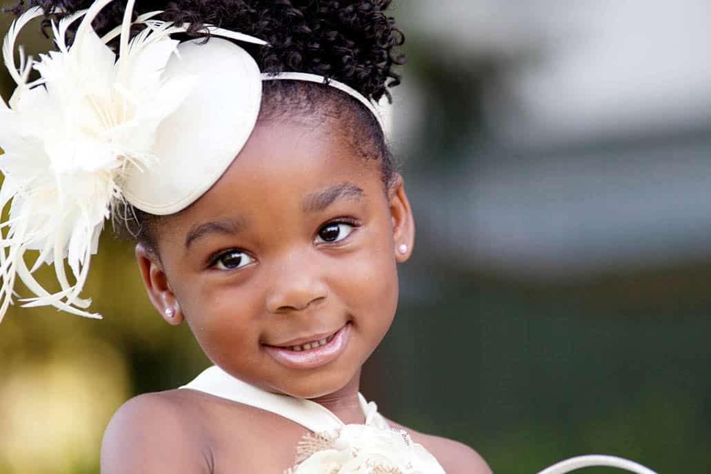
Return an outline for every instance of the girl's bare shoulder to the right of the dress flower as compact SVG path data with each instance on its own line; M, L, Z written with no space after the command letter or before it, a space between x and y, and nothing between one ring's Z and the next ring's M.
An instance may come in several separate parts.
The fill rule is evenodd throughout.
M432 453L447 474L491 474L491 468L474 449L464 443L441 436L419 433L407 426L388 420L390 426L410 433L412 441L419 443Z

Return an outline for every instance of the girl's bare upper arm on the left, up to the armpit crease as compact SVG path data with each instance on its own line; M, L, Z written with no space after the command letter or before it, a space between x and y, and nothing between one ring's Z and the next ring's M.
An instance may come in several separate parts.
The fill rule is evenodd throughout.
M209 456L185 414L161 394L127 401L109 422L101 446L102 474L210 472Z

